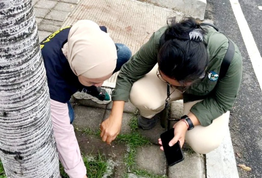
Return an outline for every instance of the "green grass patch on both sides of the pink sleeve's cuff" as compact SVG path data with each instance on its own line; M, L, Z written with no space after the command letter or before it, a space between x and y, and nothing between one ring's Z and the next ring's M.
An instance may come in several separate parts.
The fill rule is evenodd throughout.
M92 155L83 157L84 164L86 166L86 172L88 178L101 178L107 173L108 162L104 155L98 154L93 157ZM64 172L64 168L60 163L60 174L62 178L69 178Z

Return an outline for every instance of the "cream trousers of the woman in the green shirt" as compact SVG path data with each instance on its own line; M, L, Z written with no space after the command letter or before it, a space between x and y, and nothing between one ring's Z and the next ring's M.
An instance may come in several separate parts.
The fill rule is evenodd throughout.
M158 65L136 81L130 92L130 102L136 106L140 114L148 119L161 112L165 107L167 98L167 84L160 80L157 75ZM174 90L170 87L170 92ZM174 91L170 101L182 99L182 93ZM198 101L184 103L183 115L189 114L190 109ZM195 126L194 129L186 132L185 142L200 154L206 154L217 148L222 142L229 122L229 111L213 121L209 126Z

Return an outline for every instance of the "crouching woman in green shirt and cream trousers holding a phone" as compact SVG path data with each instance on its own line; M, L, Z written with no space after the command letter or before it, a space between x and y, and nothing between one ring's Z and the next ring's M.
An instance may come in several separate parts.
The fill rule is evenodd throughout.
M166 101L183 99L184 116L174 124L175 136L169 145L179 140L182 146L186 141L202 154L217 148L241 82L242 58L237 46L232 46L232 61L220 76L229 47L225 35L193 18L179 23L172 19L167 27L154 32L120 70L111 114L101 124L102 140L109 144L116 138L128 99L140 111L138 125L142 129L157 124Z

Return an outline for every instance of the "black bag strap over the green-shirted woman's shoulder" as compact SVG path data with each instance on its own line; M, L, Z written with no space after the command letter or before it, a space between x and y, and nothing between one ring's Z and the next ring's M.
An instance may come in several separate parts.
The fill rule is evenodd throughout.
M219 32L218 28L214 24L212 24L212 23L200 23L200 25L211 26L211 27L213 27L215 30L217 30ZM230 63L231 63L231 61L232 61L232 59L234 57L234 54L235 54L235 46L234 46L234 44L232 43L232 41L227 36L226 36L226 38L228 39L228 48L227 48L226 54L224 56L224 59L222 61L222 64L220 66L219 79L222 79L223 77L225 77L226 72L227 72L227 70L229 68L229 65L230 65Z

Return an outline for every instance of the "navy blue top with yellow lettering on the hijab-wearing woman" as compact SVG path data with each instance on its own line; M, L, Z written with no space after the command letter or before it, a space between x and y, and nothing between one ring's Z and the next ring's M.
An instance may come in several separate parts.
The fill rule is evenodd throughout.
M86 87L79 82L61 50L67 42L70 28L57 30L40 43L50 98L61 103L66 103L71 95ZM100 28L107 32L105 27Z

